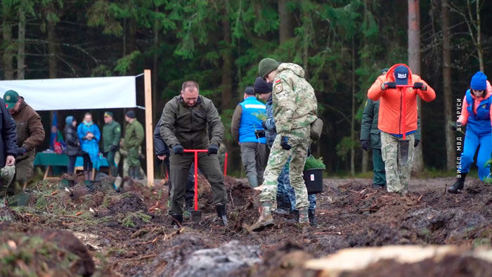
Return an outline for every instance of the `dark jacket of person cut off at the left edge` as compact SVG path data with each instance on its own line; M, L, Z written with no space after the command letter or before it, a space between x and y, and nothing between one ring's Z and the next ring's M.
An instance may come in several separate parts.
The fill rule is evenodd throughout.
M17 157L17 129L2 99L0 99L0 117L0 168L4 168L8 155Z

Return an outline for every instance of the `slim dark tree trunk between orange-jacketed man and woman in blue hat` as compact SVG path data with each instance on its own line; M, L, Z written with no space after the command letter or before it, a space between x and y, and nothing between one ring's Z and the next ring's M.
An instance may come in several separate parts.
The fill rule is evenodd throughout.
M451 101L453 91L451 90L451 32L449 30L448 0L441 2L442 30L443 30L443 82L444 82L444 136L446 138L446 169L451 170L456 166L456 152L453 142L455 134L449 128L448 122L455 122L451 115Z

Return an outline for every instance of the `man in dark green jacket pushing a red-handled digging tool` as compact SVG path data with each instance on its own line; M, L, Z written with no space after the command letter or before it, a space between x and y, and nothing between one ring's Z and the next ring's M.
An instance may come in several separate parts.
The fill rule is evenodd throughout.
M209 139L209 128L211 129ZM175 96L164 106L160 119L160 134L171 148L171 200L169 214L173 222L183 222L183 202L186 179L193 153L185 149L206 149L198 154L198 167L212 185L214 205L219 223L227 225L227 193L224 175L221 172L217 152L224 136L224 125L214 103L200 96L198 83L186 81L181 86L181 95Z

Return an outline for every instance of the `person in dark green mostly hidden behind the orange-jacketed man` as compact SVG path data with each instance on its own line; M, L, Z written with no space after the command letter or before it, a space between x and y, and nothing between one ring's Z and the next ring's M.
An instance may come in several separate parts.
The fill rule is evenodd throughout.
M386 75L388 68L381 70ZM373 188L384 188L386 186L386 172L381 153L381 132L377 128L377 119L380 113L380 101L368 99L365 102L361 122L361 145L363 150L373 148ZM420 142L420 117L417 120L417 131L415 132L415 147Z

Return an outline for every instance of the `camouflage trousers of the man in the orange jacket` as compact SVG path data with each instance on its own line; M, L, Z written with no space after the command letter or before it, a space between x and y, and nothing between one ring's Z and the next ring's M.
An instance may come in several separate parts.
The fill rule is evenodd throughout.
M381 131L381 152L389 192L407 193L414 153L414 134L397 138Z

